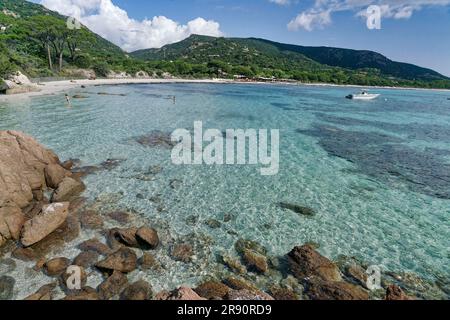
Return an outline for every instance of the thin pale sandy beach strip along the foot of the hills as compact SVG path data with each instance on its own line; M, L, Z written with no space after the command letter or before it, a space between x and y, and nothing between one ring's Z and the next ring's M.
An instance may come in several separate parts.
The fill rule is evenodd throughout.
M72 90L81 86L106 86L106 85L131 85L131 84L271 84L271 85L296 85L307 87L336 87L336 88L354 88L354 89L383 89L383 90L425 90L434 92L450 92L449 89L428 89L428 88L410 88L410 87L383 87L383 86L361 86L361 85L340 85L332 83L302 83L302 82L262 82L262 81L236 81L230 79L149 79L149 78L124 78L124 79L97 79L97 80L61 80L41 82L37 84L39 91L31 91L19 94L0 95L0 102L11 102L20 99L27 99L36 96L53 95L66 90Z

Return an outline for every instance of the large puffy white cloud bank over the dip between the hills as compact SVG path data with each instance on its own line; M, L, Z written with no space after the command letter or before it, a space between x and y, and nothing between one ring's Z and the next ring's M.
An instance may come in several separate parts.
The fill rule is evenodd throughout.
M164 16L132 19L111 0L41 0L50 10L77 18L89 29L125 51L159 48L192 34L223 36L219 23L197 18L180 24Z

